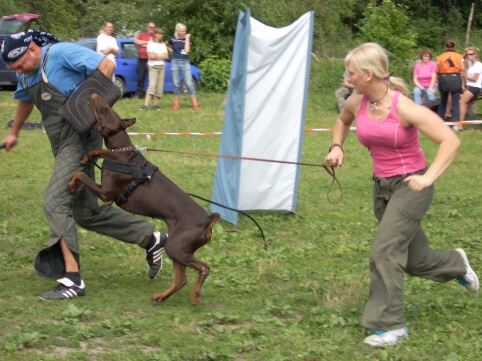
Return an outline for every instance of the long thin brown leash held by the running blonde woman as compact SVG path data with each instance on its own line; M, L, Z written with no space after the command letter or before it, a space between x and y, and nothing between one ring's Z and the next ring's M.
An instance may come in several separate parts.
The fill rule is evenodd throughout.
M163 153L175 153L175 154L185 154L185 155L196 155L201 157L212 157L212 158L225 158L225 159L236 159L236 160L252 160L257 162L270 162L270 163L281 163L281 164L293 164L293 165L301 165L301 166L310 166L310 167L323 167L325 171L331 176L332 181L330 187L328 188L328 192L326 194L326 198L328 202L332 204L338 204L343 199L343 188L341 187L340 181L336 177L335 173L335 164L334 163L304 163L304 162L291 162L286 160L273 160L273 159L265 159L265 158L252 158L252 157L241 157L237 155L225 155L225 154L212 154L212 153L196 153L196 152L185 152L185 151L177 151L177 150L167 150L167 149L157 149L157 148L146 148L135 146L139 151L151 151L151 152L163 152ZM330 198L330 192L333 188L333 185L338 184L338 188L340 189L340 197L336 201L332 201Z

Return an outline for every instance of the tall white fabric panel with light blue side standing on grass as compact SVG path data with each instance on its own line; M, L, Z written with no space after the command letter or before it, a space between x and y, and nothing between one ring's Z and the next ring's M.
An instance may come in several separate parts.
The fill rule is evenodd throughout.
M314 12L272 28L241 12L219 154L300 162ZM219 158L213 201L238 210L296 208L299 165ZM212 205L237 224L237 212Z

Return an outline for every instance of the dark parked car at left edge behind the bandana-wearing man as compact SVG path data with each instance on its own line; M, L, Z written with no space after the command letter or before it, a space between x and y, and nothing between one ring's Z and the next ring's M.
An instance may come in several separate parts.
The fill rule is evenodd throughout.
M10 34L27 30L27 25L40 17L37 14L13 14L0 18L0 46L3 40ZM15 70L7 69L7 66L0 57L0 87L16 87L17 76Z

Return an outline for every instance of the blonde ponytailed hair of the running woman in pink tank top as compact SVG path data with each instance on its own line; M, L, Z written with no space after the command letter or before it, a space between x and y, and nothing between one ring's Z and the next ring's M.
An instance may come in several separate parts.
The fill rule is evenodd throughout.
M362 74L371 71L375 78L387 80L390 88L408 93L403 79L390 76L387 53L377 43L365 43L351 50L345 57L345 67L348 65L352 65Z

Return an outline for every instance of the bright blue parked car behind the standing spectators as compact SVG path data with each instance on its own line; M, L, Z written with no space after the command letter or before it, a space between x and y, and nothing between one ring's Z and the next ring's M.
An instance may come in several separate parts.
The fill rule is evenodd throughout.
M137 90L137 46L133 39L116 39L119 46L119 56L116 57L117 68L115 70L115 84L119 87L122 95L126 93L134 93ZM80 39L76 43L95 51L96 38ZM172 92L174 84L172 82L171 62L166 61L166 75L164 78L164 91ZM191 65L191 75L194 86L199 89L201 82L201 71ZM146 75L144 91L149 85L149 78ZM184 81L181 83L181 90L185 92L186 86Z

